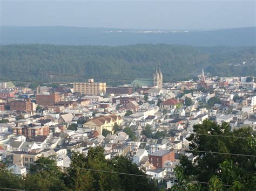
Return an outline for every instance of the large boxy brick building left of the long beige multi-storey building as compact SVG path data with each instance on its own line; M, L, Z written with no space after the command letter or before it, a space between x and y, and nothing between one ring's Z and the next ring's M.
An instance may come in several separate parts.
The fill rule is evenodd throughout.
M36 103L38 105L54 105L60 101L61 101L61 97L57 93L36 95Z

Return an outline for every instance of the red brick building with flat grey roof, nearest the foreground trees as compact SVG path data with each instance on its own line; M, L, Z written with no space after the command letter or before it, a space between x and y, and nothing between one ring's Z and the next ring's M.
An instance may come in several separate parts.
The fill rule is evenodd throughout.
M171 150L159 150L149 154L149 162L156 168L163 168L166 160L174 161L175 153Z

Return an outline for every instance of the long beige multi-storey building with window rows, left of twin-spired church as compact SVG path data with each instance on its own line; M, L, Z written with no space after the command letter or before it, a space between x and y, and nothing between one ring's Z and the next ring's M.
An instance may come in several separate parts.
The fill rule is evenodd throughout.
M106 83L97 83L93 79L89 79L88 82L77 82L73 84L75 92L85 95L99 95L106 93Z

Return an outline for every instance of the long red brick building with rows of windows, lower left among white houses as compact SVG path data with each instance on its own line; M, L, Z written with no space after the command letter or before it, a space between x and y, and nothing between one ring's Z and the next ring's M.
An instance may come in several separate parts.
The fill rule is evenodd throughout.
M42 136L49 136L49 126L44 125L44 126L23 126L23 127L16 127L12 128L12 131L14 132L15 135L23 135L27 138L34 138L38 135Z

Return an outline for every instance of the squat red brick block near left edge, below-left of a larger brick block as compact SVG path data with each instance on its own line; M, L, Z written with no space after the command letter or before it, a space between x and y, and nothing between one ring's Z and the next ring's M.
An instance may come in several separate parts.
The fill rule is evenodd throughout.
M10 102L10 110L32 112L33 104L30 100L15 100Z

